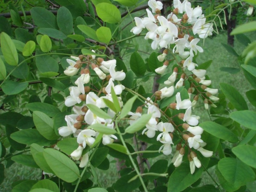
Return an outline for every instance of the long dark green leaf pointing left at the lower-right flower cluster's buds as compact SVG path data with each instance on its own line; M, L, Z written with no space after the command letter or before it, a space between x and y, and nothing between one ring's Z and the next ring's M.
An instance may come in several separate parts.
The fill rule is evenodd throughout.
M230 142L238 141L236 135L233 132L231 132L227 127L224 127L215 122L206 121L206 122L200 123L199 126L202 127L204 131L220 139L228 140Z

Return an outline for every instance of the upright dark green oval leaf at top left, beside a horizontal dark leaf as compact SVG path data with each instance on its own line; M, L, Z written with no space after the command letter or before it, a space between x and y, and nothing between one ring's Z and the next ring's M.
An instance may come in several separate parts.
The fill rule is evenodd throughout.
M73 33L73 18L70 11L66 7L60 7L57 12L57 23L60 31L69 35Z

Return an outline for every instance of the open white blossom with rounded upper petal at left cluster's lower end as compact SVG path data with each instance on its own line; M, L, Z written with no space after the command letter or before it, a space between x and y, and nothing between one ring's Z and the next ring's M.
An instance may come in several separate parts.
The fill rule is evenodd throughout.
M83 144L84 148L86 147L86 144L91 146L95 141L95 139L93 138L95 137L95 135L96 135L95 131L91 129L85 129L78 134L77 143Z

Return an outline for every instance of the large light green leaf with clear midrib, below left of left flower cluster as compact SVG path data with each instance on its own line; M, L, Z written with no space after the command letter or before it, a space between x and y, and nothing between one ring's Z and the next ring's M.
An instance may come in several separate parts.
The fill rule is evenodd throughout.
M43 154L47 164L60 179L71 183L80 177L76 164L60 151L46 148Z

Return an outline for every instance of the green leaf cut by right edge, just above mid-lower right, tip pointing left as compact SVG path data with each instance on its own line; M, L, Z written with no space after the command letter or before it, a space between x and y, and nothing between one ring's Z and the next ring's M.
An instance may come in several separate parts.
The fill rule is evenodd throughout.
M230 114L230 118L237 123L249 128L256 130L256 112L250 110L235 111Z

